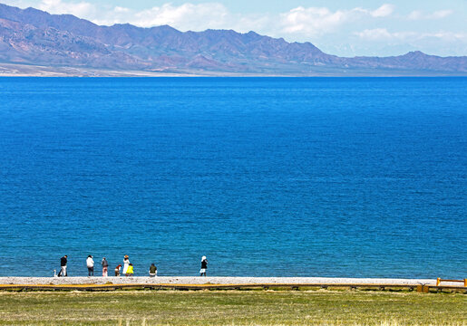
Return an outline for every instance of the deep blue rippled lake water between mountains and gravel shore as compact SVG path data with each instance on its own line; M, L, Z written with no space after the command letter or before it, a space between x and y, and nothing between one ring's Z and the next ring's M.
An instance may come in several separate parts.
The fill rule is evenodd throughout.
M0 79L0 275L465 277L467 78Z

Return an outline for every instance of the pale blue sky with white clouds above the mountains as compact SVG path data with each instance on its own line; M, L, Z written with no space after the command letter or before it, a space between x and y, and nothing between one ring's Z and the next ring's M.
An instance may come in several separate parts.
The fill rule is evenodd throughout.
M95 24L255 31L340 56L467 55L467 0L0 0Z

